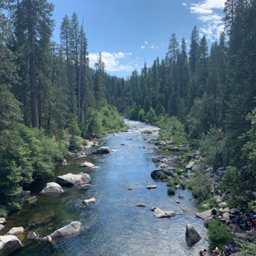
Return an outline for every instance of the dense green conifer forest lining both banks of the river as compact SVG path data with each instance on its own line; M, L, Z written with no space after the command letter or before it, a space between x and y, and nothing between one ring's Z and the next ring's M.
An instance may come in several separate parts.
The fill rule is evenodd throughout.
M107 75L101 53L89 67L75 13L63 17L60 43L53 42L52 16L47 0L0 3L2 200L50 175L66 151L66 132L72 141L124 128L118 112L152 124L175 117L187 139L201 141L209 164L233 167L234 193L256 191L255 0L226 1L225 31L211 46L196 26L189 51L171 34L166 56L126 79Z

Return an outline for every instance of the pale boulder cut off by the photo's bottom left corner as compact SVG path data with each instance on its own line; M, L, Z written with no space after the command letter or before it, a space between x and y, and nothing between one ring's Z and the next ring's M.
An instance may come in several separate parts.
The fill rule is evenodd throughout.
M22 247L21 241L15 235L0 236L0 255L7 256Z

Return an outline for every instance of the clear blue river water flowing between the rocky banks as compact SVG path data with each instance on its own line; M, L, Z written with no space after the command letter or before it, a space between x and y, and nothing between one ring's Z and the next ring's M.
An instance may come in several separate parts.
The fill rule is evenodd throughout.
M206 229L203 221L195 217L198 208L190 192L176 190L176 195L169 196L166 183L154 181L150 176L151 171L158 167L151 160L152 156L159 154L153 147L158 128L137 121L126 120L126 123L131 127L128 132L103 137L100 146L109 147L112 153L89 154L86 158L68 162L67 167L56 168L55 178L68 172L86 171L91 176L92 188L64 188L63 194L45 195L39 192L46 182L55 181L55 178L38 181L29 188L38 202L7 219L6 230L12 226L23 226L26 232L34 231L40 237L72 221L79 221L83 226L80 234L56 240L53 245L23 240L24 247L13 255L193 256L199 255L199 249L208 248ZM142 130L152 130L153 133L142 135ZM79 167L85 160L98 168ZM174 160L173 166L176 166ZM158 188L147 190L147 185L158 185ZM179 194L185 199L176 203ZM97 200L94 205L85 207L81 203L92 197ZM136 207L137 203L145 203L148 207ZM150 210L153 206L173 210L176 217L154 217ZM185 243L187 223L192 224L202 236L192 247Z

